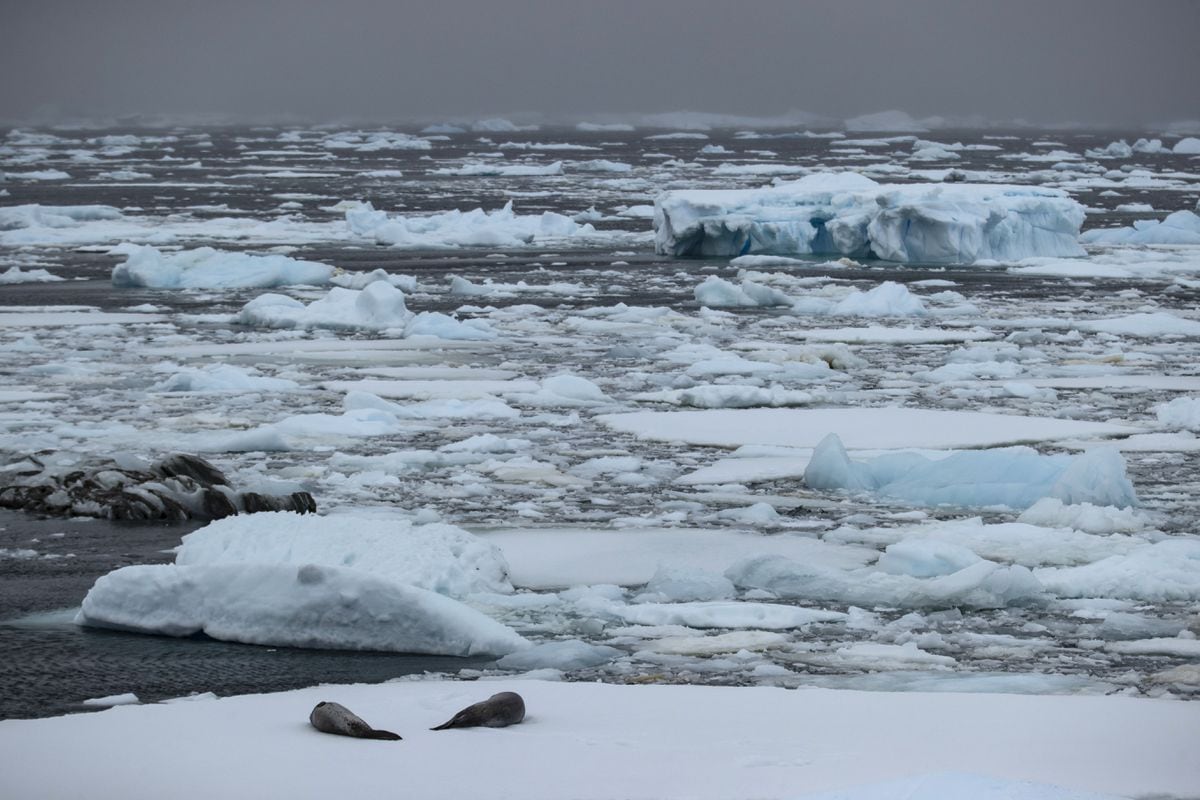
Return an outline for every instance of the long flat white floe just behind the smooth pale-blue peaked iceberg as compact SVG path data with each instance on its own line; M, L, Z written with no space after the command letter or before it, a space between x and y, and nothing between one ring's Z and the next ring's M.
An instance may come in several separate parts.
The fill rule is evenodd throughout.
M751 444L815 447L827 434L836 433L851 450L946 450L1141 432L1109 422L911 408L632 411L598 419L642 439L720 447Z

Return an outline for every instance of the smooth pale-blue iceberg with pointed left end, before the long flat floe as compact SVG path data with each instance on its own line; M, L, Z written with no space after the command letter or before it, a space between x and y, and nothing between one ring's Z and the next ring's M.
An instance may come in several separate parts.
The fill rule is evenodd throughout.
M898 452L859 462L830 433L814 450L804 480L815 489L870 492L925 506L1028 509L1042 498L1122 509L1138 505L1124 458L1112 447L1080 456L998 447L938 461Z

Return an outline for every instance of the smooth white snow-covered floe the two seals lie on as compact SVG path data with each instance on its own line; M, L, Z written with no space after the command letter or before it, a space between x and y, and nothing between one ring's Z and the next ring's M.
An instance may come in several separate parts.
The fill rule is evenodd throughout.
M497 691L522 694L523 723L428 730ZM318 733L307 717L320 700L403 740ZM1127 697L401 681L0 722L0 793L47 800L325 800L397 790L431 800L1186 798L1200 787L1198 738L1195 704Z

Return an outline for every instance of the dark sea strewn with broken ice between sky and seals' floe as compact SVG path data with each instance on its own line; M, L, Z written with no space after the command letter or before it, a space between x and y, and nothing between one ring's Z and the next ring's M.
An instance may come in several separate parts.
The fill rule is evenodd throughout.
M914 137L655 133L8 132L0 270L37 279L0 285L4 462L186 450L239 485L308 491L323 512L458 525L498 542L514 576L512 594L473 606L534 642L618 652L569 678L1194 693L1200 248L1088 245L1079 259L976 265L673 260L653 253L649 215L667 190L953 169L1064 190L1087 207L1085 230L1116 228L1195 207L1200 163L1087 155L1111 134L943 132L937 156ZM712 144L726 152L701 151ZM301 285L118 288L130 249L109 251L124 242L163 261L199 247L314 261L332 283L317 270ZM349 294L374 270L402 305ZM713 277L751 302L703 307L697 287ZM853 300L886 283L902 303ZM242 311L264 293L331 308L334 289L340 305L318 324L265 326ZM955 414L917 427L898 408ZM857 444L838 431L856 462L1115 446L1138 505L1033 518L812 489L811 449L835 431L803 426L829 409L874 420L851 431ZM736 422L671 435L612 423L650 411ZM775 431L751 425L766 411ZM0 686L23 700L6 716L128 691L492 668L31 619L78 607L108 570L170 560L187 529L7 519L0 636L22 670ZM79 539L89 524L107 533ZM714 602L743 607L696 604ZM100 667L71 674L76 662Z

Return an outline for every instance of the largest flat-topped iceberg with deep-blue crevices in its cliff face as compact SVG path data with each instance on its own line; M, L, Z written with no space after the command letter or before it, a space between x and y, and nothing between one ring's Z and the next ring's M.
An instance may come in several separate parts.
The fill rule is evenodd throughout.
M676 190L654 200L668 255L822 254L971 263L1084 255L1084 206L1066 192L1006 184L877 184L818 173L757 190Z

